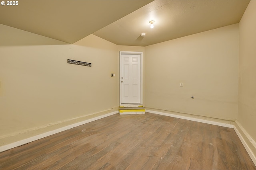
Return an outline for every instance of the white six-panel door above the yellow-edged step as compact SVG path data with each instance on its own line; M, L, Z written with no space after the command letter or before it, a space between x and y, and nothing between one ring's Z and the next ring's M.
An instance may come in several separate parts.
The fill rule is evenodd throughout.
M120 53L121 104L141 103L141 54Z

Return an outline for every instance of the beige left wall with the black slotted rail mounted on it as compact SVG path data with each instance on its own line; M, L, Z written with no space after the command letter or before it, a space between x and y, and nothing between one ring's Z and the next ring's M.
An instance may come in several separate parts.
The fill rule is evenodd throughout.
M94 35L63 45L0 28L8 33L0 39L0 146L117 110L117 45Z

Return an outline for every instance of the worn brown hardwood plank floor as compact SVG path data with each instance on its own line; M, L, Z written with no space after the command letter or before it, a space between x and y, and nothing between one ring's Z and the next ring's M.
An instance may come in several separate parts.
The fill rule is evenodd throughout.
M0 153L0 170L256 170L234 129L112 115Z

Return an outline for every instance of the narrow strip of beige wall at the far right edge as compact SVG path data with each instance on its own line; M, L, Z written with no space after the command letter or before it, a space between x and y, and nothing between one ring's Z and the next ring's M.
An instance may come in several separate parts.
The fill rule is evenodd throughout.
M256 141L256 0L251 0L240 23L238 122ZM256 155L256 144L254 148Z

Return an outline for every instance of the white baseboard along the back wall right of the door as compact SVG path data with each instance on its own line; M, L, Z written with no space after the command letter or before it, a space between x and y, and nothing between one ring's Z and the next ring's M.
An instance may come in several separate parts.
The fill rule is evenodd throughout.
M158 114L158 115L164 115L164 116L170 116L170 117L176 117L176 118L186 119L186 120L191 120L191 121L197 121L197 122L207 123L207 124L211 124L211 125L217 125L217 126L234 128L234 125L229 124L229 123L222 123L222 122L217 122L217 121L198 119L198 118L195 118L195 117L186 117L186 116L182 116L182 115L176 115L176 114L171 114L171 113L164 113L164 112L161 112L161 111L153 111L153 110L150 110L150 109L146 109L145 112L154 113L154 114Z

